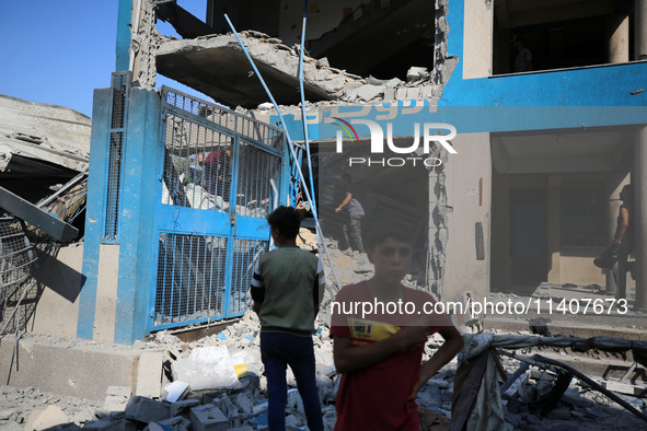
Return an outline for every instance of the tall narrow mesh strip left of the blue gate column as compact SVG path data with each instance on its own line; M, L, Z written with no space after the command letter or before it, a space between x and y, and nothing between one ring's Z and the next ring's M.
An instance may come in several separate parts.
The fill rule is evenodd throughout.
M113 73L111 128L108 131L108 166L105 210L105 240L115 241L119 224L122 161L126 128L126 107L130 89L130 72Z

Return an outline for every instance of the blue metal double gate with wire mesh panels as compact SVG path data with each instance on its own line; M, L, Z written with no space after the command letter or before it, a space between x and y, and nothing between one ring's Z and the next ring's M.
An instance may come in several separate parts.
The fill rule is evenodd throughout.
M167 88L162 102L152 330L247 310L266 215L289 186L280 129Z

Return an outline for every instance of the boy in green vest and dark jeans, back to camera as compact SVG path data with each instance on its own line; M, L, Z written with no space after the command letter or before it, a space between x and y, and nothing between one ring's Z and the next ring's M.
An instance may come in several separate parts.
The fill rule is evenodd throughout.
M267 217L277 248L262 255L254 267L251 293L261 319L261 359L267 377L269 430L286 429L290 365L303 401L308 428L323 430L316 389L314 319L325 280L321 260L297 246L301 218L291 207L278 207Z

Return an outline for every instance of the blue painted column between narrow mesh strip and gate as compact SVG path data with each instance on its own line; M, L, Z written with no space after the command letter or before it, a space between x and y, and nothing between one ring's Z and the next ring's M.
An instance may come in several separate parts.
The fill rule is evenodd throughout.
M115 314L115 342L131 345L143 339L153 292L157 263L153 261L154 190L161 100L152 90L130 90L127 137L124 153L122 212L119 214L119 276Z

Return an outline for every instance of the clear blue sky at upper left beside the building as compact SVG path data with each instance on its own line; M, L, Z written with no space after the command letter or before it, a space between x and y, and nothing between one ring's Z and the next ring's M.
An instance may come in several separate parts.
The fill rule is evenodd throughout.
M206 0L177 3L205 19ZM93 91L115 71L117 9L118 0L0 0L0 94L92 117ZM180 37L170 24L158 30ZM162 84L199 95L158 75Z

